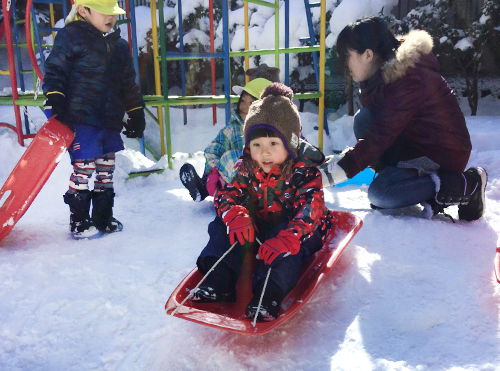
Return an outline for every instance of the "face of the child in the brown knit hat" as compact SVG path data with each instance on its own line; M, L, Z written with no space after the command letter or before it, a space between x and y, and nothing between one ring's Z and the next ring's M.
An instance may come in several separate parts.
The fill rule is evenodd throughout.
M269 173L274 165L283 164L288 158L283 141L275 137L260 137L251 140L250 155L266 173Z

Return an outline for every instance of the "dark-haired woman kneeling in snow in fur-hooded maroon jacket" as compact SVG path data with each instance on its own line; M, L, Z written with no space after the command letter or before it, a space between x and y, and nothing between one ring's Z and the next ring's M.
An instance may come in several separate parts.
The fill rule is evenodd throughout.
M484 213L488 178L482 167L465 171L469 132L432 47L426 31L413 30L398 40L373 16L340 32L337 53L360 83L358 142L321 170L325 183L337 184L371 166L378 173L368 188L372 207L422 203L423 216L431 217L458 205L459 218L472 221Z

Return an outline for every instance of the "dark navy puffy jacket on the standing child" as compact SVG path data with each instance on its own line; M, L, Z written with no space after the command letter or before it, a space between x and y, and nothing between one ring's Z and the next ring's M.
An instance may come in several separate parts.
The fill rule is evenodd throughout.
M121 131L125 111L143 107L128 43L119 30L103 36L83 21L58 31L45 64L43 92L66 97L72 124Z

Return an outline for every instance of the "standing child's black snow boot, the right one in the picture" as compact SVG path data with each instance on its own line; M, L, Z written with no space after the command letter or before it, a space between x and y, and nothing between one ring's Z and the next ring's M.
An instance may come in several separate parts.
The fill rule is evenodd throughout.
M113 233L123 229L123 224L113 218L114 198L112 189L92 192L92 220L101 232Z

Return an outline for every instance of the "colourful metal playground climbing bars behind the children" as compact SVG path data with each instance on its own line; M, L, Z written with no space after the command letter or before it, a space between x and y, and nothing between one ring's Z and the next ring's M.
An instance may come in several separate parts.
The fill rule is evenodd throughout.
M153 118L153 120L159 125L160 130L160 155L167 155L168 166L172 168L172 146L171 146L171 133L170 133L170 107L171 106L182 106L184 110L184 122L186 123L186 106L188 105L212 105L213 107L213 120L214 124L216 122L215 107L216 104L225 105L226 122L229 120L231 115L231 103L236 102L238 97L231 95L231 71L230 71L230 58L232 57L244 57L245 58L245 70L249 68L249 58L255 55L274 55L275 56L275 66L280 67L280 54L285 54L285 81L286 85L289 85L289 54L291 53L313 53L314 60L314 70L316 74L317 91L308 92L302 94L295 94L296 99L314 99L319 100L319 122L318 122L318 144L319 147L323 146L323 128L325 120L325 110L324 106L324 87L325 87L325 29L326 29L326 11L325 2L326 0L320 0L316 3L309 3L309 0L304 0L306 18L308 21L309 35L301 41L308 42L309 46L298 46L289 47L289 2L284 2L285 8L285 47L280 48L279 45L279 11L280 11L280 1L271 0L272 2L266 2L261 0L245 0L244 1L244 19L245 19L245 50L243 51L231 51L230 41L229 41L229 8L228 0L222 0L222 25L223 25L223 48L220 52L215 52L214 50L214 20L213 20L213 0L209 0L209 14L210 14L210 53L186 53L183 50L183 22L179 22L179 50L175 52L167 51L166 47L166 34L165 34L165 22L164 22L164 0L158 0L158 5L156 1L150 2L151 8L151 24L152 27L152 42L153 42L153 57L154 57L154 77L155 77L155 95L146 95L144 100L146 103L146 112ZM36 22L36 17L34 14L33 4L47 4L50 7L51 15L51 27L42 28ZM249 49L249 17L248 17L248 3L253 3L259 6L265 6L274 9L275 12L275 48L268 50L248 50ZM15 112L16 124L11 125L8 123L0 123L0 126L10 128L17 133L18 142L20 145L24 145L24 140L27 138L32 138L33 133L30 133L29 125L29 115L26 109L24 112L24 130L23 130L23 120L21 118L21 107L37 106L43 109L44 96L38 94L38 88L43 82L44 74L44 58L39 58L39 63L37 62L35 50L38 49L39 56L43 56L44 49L49 48L50 45L43 45L41 42L40 32L50 31L53 33L58 30L54 25L54 13L53 6L60 5L63 7L64 17L67 15L66 1L65 0L27 0L26 12L24 20L14 19L15 15L15 0L2 0L4 19L3 23L0 24L0 40L2 34L5 34L7 54L9 58L9 71L12 96L11 97L0 97L0 104L3 105L13 105ZM311 8L320 7L321 19L320 19L320 44L316 45L316 36L314 34ZM124 8L126 14L124 18L119 19L117 24L127 23L128 28L128 40L131 47L131 53L134 60L134 67L137 72L137 79L139 79L139 68L138 68L138 49L137 49L137 39L136 39L136 22L135 22L135 3L134 0L125 0ZM156 14L158 10L157 20ZM182 1L179 0L177 5L177 11L179 19L182 19ZM13 25L11 24L11 17L13 18ZM20 36L18 34L18 29L15 26L24 22L24 29L26 34L27 42L21 44L19 42ZM159 27L156 27L159 24ZM13 27L14 26L14 27ZM161 30L162 32L159 32ZM3 46L3 45L2 45ZM20 48L26 47L31 60L31 69L24 70L21 57ZM161 54L158 54L158 50ZM221 58L224 65L224 94L216 95L215 92L215 58ZM211 62L211 83L212 83L212 95L205 96L186 96L185 89L185 68L184 61L189 59L210 59ZM167 62L178 60L181 65L181 79L182 79L182 96L169 96L168 95L168 73L167 73ZM3 74L7 74L7 71L0 71ZM34 79L34 92L28 92L25 89L23 74L31 74ZM248 78L248 77L247 77ZM137 81L139 82L139 81ZM156 109L156 116L149 110L149 108ZM325 127L327 130L327 127ZM141 142L141 152L145 154L145 150L149 150L151 153L153 151L149 148L147 143L145 143L144 138L140 140ZM154 154L154 153L153 153ZM158 160L159 156L155 156Z

